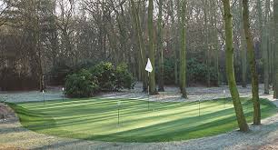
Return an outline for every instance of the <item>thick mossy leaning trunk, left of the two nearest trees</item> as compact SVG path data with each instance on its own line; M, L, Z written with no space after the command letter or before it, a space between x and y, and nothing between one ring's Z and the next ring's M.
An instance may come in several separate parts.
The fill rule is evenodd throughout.
M233 68L233 15L231 14L230 0L222 0L223 11L224 11L224 25L225 25L225 43L226 43L226 75L228 79L228 84L230 92L233 98L233 106L235 110L235 115L237 118L237 123L241 131L246 132L249 127L246 123L245 116L243 114L243 105L240 101L240 96L236 87L234 68Z

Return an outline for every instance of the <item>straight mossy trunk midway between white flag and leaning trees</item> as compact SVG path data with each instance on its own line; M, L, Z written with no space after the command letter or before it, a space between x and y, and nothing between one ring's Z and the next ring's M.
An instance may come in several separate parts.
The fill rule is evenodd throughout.
M183 3L181 4L182 10L181 12L181 66L180 66L180 72L181 72L181 92L183 94L184 98L187 98L187 93L186 93L186 25L185 25L185 18L186 18L186 0L182 1Z

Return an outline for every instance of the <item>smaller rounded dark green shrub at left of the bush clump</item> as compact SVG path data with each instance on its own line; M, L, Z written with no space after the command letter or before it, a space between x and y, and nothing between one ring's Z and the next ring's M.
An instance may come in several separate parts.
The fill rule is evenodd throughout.
M97 79L87 70L67 75L65 95L70 97L89 97L99 91Z

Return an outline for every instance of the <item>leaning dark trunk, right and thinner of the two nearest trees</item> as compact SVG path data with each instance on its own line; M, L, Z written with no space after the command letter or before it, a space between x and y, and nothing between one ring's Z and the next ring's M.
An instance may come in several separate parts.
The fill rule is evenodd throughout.
M243 0L243 25L244 33L247 44L247 53L248 60L252 76L252 94L253 94L253 124L261 124L261 108L260 108L260 98L259 98L259 81L258 73L256 70L256 60L254 55L254 46L253 46L253 35L250 31L249 24L249 1Z

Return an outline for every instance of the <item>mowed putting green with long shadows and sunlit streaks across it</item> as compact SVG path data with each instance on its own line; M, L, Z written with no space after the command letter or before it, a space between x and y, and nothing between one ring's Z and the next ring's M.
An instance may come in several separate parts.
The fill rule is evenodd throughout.
M118 125L118 102L120 125ZM243 98L249 123L251 100ZM148 103L123 99L75 99L10 104L21 124L37 133L109 142L165 142L218 135L237 128L231 99L202 102ZM262 99L263 118L277 112Z

